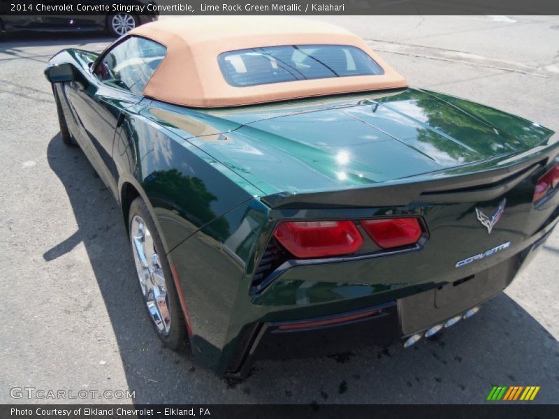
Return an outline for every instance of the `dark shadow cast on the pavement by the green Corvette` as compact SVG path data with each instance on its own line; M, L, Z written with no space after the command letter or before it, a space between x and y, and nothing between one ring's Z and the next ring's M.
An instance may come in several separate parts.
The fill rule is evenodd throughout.
M159 343L122 214L80 149L64 146L58 134L48 144L48 163L66 189L78 232L43 257L85 244L136 403L483 403L492 385L541 385L537 402L559 399L558 341L506 294L412 348L257 362L240 383L214 376L189 353Z

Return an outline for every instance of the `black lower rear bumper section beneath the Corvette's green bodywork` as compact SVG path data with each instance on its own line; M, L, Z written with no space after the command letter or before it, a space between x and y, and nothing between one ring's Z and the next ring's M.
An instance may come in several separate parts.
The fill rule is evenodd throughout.
M556 220L557 221L557 220ZM310 358L340 354L363 346L387 346L463 315L500 293L551 234L555 223L540 231L530 246L500 263L427 291L373 307L300 321L257 323L245 329L229 362L228 376L242 378L262 359Z

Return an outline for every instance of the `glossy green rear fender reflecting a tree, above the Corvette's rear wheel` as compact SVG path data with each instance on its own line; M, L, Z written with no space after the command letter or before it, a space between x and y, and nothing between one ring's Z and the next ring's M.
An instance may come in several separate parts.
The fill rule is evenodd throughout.
M144 106L126 109L115 132L119 191L129 182L151 205L166 251L242 203L261 195L233 170L150 120ZM215 223L213 224L215 226ZM219 229L218 229L219 230ZM224 226L222 233L228 235Z

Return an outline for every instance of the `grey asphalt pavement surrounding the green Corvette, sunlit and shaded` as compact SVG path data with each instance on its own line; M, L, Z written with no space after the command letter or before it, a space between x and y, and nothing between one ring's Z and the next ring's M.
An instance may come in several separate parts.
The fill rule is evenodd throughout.
M559 128L558 17L321 19L363 36L413 86ZM493 385L539 385L535 402L559 402L558 231L479 314L412 348L258 362L240 383L162 348L117 203L80 150L62 144L43 76L55 52L110 41L0 40L0 403L43 402L10 396L23 387L135 395L69 402L483 403Z

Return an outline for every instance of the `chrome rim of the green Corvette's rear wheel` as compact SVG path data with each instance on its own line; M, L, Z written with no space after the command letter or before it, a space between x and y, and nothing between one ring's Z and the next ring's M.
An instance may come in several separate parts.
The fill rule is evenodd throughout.
M154 247L152 233L138 215L133 216L130 238L147 311L158 332L167 335L170 330L170 310L165 274Z

